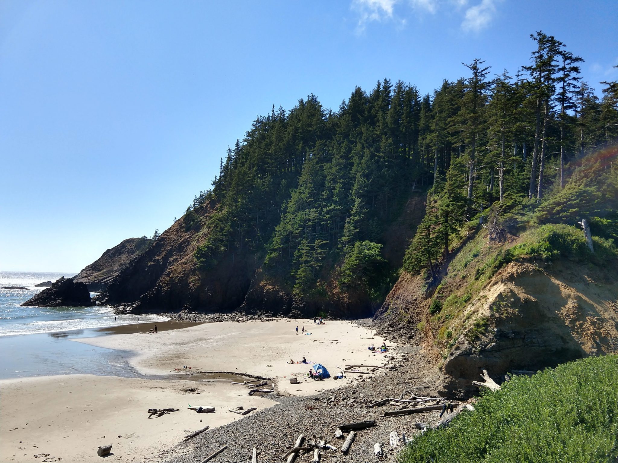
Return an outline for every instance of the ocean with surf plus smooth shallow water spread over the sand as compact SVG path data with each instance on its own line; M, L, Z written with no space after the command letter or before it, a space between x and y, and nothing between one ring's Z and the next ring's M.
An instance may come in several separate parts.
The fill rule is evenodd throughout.
M0 290L0 379L41 375L90 373L138 377L129 366L131 352L104 349L72 341L100 336L99 328L129 325L137 315L114 315L112 307L22 307L45 288L34 285L63 273L0 272L0 287L23 286L26 290ZM114 320L116 317L116 320ZM142 322L167 320L140 315Z

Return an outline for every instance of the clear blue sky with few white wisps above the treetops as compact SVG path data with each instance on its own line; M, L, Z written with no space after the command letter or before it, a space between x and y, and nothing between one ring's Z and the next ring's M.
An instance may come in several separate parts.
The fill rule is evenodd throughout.
M77 272L210 186L271 105L336 109L384 77L423 93L536 30L618 79L618 1L0 2L0 270Z

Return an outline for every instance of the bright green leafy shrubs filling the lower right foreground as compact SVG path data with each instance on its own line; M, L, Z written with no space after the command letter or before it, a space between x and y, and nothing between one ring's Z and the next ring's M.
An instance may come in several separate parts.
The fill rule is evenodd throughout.
M399 463L613 462L618 356L589 357L485 393L473 412L418 436Z

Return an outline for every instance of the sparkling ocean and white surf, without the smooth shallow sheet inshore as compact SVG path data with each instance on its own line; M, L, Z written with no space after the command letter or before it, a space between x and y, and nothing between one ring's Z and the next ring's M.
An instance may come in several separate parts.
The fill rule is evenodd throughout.
M34 285L60 277L66 273L0 272L2 286L23 286L27 290L0 290L0 336L54 333L85 330L137 322L137 315L114 315L112 307L22 307L21 304L45 288ZM158 315L140 315L140 322L167 320Z

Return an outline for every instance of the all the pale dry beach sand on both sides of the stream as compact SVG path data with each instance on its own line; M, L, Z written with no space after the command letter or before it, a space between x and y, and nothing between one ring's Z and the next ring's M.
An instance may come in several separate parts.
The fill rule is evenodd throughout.
M112 444L113 455L107 460L144 461L179 443L187 432L242 419L229 408L257 407L259 412L275 403L268 395L248 396L245 386L229 381L195 381L195 377L189 381L185 373L176 373L184 366L192 371L273 378L278 393L308 395L360 380L361 375L347 373L343 380L313 381L307 377L311 364L291 365L290 359L297 362L306 357L307 361L320 362L331 375L340 371L337 366L385 363L386 354L367 349L383 342L377 336L371 339L370 329L352 322L303 322L277 319L204 323L153 334L76 340L132 351L135 355L129 362L138 372L174 373L178 380L61 375L0 381L2 460L101 461L96 449ZM303 335L302 327L311 334ZM299 383L290 384L290 377L297 377ZM197 391L188 391L193 388ZM197 414L187 409L189 404L214 406L216 412ZM148 419L148 409L167 407L179 411Z

